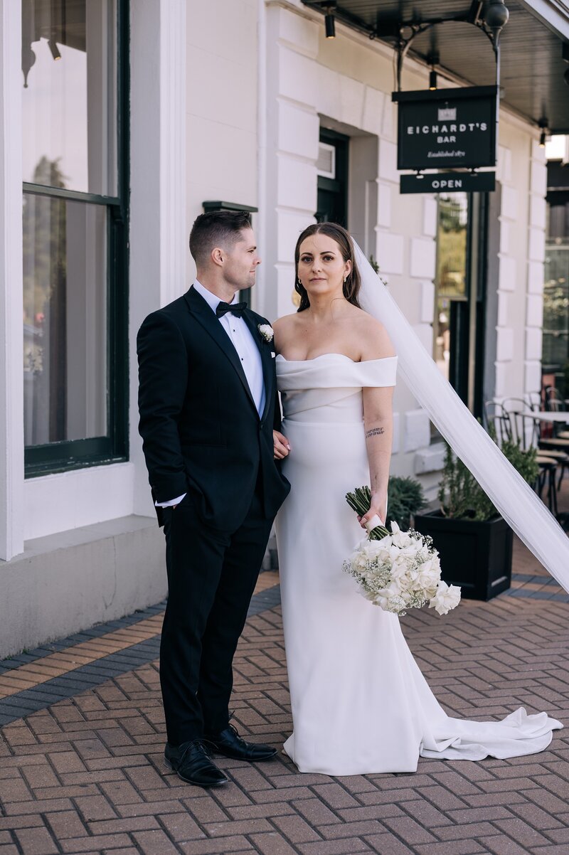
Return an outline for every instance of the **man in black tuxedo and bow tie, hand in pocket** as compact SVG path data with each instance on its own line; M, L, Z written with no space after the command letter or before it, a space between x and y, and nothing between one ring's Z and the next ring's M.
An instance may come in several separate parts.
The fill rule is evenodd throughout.
M235 301L261 263L249 214L198 216L190 251L197 280L138 332L139 431L166 536L164 761L183 781L216 787L227 778L209 750L249 761L276 753L243 740L228 705L233 654L289 484L273 459L273 331Z

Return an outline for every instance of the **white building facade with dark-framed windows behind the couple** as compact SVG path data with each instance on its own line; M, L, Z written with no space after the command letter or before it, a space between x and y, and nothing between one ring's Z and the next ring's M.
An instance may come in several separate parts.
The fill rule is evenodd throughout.
M320 11L301 0L130 0L130 8L59 0L55 8L0 0L0 655L166 595L137 430L135 340L144 316L191 284L187 236L203 203L255 211L263 263L250 300L270 320L294 311L296 238L336 193L443 370L449 335L458 347L463 334L458 321L447 330L452 313L440 302L440 198L399 192L390 44L341 21L326 39ZM26 88L22 44L35 56ZM67 73L75 89L54 76L66 62L72 71L77 63ZM403 88L426 88L428 75L408 58ZM503 106L496 192L484 208L464 198L462 214L450 209L464 277L484 285L466 310L478 344L460 357L473 409L541 389L539 133ZM484 227L466 227L477 217ZM473 239L483 247L474 273L464 251ZM465 303L464 282L456 287ZM452 311L456 321L461 309ZM395 419L392 470L419 477L432 495L443 443L403 384Z

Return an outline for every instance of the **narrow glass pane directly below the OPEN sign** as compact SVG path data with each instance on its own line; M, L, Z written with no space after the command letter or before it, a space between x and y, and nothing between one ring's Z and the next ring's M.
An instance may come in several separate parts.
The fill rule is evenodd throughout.
M439 196L434 358L447 380L449 380L451 303L453 300L466 299L467 224L466 193Z

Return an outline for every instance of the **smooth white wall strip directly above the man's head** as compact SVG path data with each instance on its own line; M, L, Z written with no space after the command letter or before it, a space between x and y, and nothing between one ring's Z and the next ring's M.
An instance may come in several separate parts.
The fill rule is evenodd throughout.
M258 38L257 0L187 0L186 248L203 202L257 207ZM189 286L189 251L186 260Z

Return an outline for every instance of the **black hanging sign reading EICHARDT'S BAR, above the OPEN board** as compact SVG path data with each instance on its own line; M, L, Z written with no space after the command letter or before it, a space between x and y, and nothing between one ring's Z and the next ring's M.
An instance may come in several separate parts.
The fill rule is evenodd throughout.
M496 166L496 86L393 92L397 168Z

